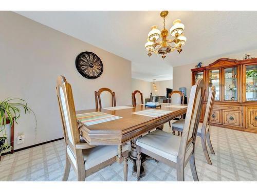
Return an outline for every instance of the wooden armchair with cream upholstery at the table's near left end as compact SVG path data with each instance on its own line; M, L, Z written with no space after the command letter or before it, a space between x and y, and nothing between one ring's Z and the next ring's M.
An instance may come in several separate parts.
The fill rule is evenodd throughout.
M116 161L116 156L118 155L117 146L92 146L85 140L81 140L71 86L65 77L58 76L56 90L66 148L66 165L62 181L68 180L70 166L74 168L77 180L85 181L87 176ZM121 155L124 163L124 180L126 181L128 169L127 145L122 148Z

